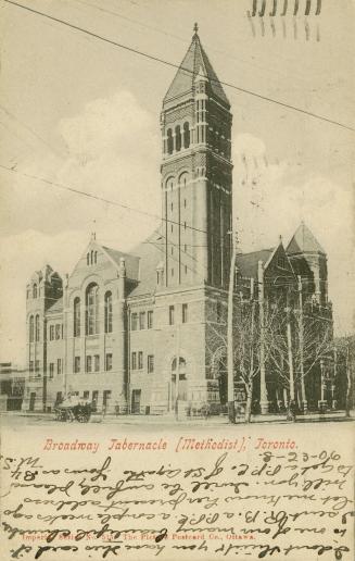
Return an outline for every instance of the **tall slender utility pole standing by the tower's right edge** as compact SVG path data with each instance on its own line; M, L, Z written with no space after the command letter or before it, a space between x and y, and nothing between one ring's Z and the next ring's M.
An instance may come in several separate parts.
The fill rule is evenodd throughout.
M234 296L234 275L237 262L237 240L233 239L233 232L230 232L232 254L229 272L228 288L228 317L227 317L227 400L228 400L228 419L230 423L236 423L234 408L234 349L233 349L233 296Z

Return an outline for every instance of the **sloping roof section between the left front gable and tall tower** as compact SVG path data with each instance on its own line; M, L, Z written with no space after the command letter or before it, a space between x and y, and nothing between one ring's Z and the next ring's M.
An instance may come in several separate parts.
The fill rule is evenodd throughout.
M129 294L129 298L152 295L156 289L156 267L164 260L164 246L160 229L153 232L132 252L140 257L139 283Z

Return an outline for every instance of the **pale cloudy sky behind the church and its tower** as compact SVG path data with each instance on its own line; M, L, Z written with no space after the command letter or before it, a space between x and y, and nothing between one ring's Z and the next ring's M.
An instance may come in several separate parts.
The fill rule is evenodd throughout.
M274 33L269 16L248 17L250 0L20 3L174 64L198 22L219 79L240 88L225 86L240 249L279 235L287 245L305 221L328 253L337 334L354 332L352 0L324 1L307 18L301 1L295 17L272 20ZM0 360L23 364L34 271L71 273L92 232L127 251L156 226L160 112L176 70L4 0L0 53Z

